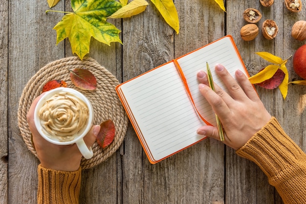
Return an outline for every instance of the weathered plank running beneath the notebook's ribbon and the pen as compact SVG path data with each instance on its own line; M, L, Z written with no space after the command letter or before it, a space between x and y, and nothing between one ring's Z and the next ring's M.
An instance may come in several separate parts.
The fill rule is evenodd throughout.
M224 12L215 1L177 1L176 7L180 33L175 35L175 58L224 36ZM206 139L174 159L175 177L180 178L172 188L175 203L224 203L222 143Z

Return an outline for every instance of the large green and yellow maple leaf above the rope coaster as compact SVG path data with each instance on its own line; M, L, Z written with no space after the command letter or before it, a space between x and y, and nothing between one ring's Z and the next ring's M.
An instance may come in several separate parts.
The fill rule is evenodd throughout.
M90 39L110 45L110 42L120 42L121 32L113 24L107 22L107 17L121 8L115 0L71 0L74 12L67 13L53 29L56 30L56 44L68 38L72 53L81 60L89 53Z

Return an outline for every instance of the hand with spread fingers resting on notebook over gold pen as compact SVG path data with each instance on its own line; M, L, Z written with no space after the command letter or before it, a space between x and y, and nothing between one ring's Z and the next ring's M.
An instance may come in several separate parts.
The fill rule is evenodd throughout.
M223 143L237 150L271 119L271 115L265 109L253 85L240 70L236 71L235 76L241 87L223 65L217 64L215 70L229 94L216 84L213 91L204 71L197 73L199 91L222 122ZM197 129L197 133L220 140L218 127L215 126L204 125Z

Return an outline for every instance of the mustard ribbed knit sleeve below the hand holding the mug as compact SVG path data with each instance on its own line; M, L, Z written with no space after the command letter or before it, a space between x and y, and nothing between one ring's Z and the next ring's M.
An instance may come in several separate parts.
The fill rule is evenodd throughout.
M78 204L81 167L77 171L56 171L38 166L38 204Z

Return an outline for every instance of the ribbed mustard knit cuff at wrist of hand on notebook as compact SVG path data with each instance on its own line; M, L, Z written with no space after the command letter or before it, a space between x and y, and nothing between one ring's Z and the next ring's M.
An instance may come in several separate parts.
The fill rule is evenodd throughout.
M305 153L286 135L274 117L236 153L255 162L268 177L298 160L305 160Z

